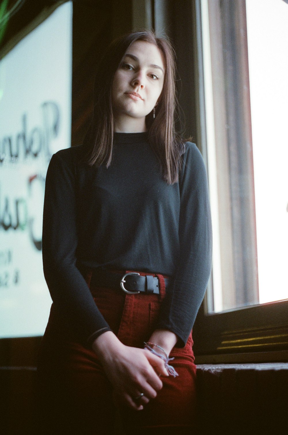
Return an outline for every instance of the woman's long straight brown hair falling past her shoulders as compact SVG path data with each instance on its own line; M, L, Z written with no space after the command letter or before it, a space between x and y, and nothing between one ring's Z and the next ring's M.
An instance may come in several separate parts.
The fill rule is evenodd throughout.
M83 141L84 160L89 165L109 167L113 153L113 112L111 89L114 74L133 42L156 45L164 57L165 74L155 111L146 116L149 143L159 157L162 176L168 184L178 181L181 155L185 151L182 138L175 132L175 54L166 38L156 38L150 31L129 33L113 41L101 59L95 77L93 119Z

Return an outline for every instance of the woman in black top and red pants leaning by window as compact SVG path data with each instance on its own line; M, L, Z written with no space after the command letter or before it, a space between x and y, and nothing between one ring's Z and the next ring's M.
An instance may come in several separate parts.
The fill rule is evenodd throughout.
M174 109L169 42L126 35L99 64L83 145L50 161L43 268L53 305L38 366L49 433L118 434L117 418L128 434L195 427L191 329L211 225L202 157L175 134Z

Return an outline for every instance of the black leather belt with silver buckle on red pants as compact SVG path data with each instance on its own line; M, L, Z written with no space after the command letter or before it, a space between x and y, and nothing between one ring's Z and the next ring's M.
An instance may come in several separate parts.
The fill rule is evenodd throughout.
M164 278L165 286L170 278ZM128 294L146 293L159 294L159 279L152 275L141 276L138 272L128 272L124 275L102 269L96 269L91 277L91 284L98 287L122 289Z

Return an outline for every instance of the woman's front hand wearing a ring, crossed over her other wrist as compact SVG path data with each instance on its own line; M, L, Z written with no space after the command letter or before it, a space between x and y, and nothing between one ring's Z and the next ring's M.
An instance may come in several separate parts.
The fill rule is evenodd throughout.
M123 345L112 331L96 338L93 350L113 385L116 401L135 410L143 409L143 404L161 390L159 376L169 376L161 358L148 350ZM144 396L136 399L142 393Z

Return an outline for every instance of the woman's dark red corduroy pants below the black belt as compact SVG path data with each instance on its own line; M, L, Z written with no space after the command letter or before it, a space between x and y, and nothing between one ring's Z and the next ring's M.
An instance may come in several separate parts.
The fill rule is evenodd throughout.
M165 295L163 276L157 274L160 294L132 295L92 285L92 274L87 270L84 277L110 328L124 345L143 348ZM38 357L38 433L192 435L196 408L192 343L190 334L184 348L172 350L170 357L175 359L170 364L179 376L162 377L161 391L142 411L119 409L96 355L80 344L52 304Z

